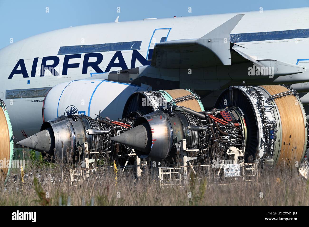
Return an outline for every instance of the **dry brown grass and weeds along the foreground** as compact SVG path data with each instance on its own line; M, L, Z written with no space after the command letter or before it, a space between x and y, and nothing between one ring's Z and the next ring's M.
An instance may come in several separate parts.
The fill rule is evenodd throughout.
M242 181L230 184L230 179L219 185L193 178L181 187L160 188L158 178L150 171L138 181L133 173L118 171L116 184L114 169L108 168L95 175L96 179L71 186L70 166L51 167L31 161L26 165L24 183L0 186L0 205L58 205L60 198L63 205L68 198L71 205L90 205L91 198L94 205L309 205L308 183L296 171L263 171L257 185ZM56 180L44 183L35 177L38 173L53 174Z

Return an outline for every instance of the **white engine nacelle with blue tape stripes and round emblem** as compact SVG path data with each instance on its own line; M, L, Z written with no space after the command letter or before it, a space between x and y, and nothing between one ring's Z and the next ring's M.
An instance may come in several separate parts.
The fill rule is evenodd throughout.
M43 121L72 114L121 118L128 97L145 89L151 88L110 80L85 79L61 83L49 90L44 98Z

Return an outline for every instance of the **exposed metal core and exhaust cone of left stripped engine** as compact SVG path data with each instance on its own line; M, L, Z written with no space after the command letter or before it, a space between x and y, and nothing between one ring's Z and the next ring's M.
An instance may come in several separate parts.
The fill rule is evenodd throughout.
M119 144L111 142L110 138L132 126L129 118L119 122L109 118L94 120L85 115L62 115L44 122L40 132L17 144L40 151L50 161L57 160L57 157L83 160L86 153L89 159L109 155L117 159L120 155Z

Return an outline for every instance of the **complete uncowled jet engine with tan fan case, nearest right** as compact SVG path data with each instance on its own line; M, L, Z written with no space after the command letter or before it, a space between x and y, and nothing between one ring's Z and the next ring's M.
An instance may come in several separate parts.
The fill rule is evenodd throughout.
M155 161L176 158L183 140L199 160L220 157L292 167L305 155L306 115L290 87L230 87L218 97L217 109L206 112L170 107L137 118L133 129L112 140Z

